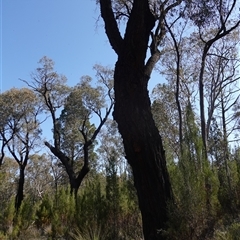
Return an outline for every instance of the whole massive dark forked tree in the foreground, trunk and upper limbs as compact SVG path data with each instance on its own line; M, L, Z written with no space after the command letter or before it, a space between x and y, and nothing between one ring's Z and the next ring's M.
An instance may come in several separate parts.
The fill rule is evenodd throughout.
M162 139L151 113L147 84L160 58L158 46L166 32L164 18L181 1L123 1L121 6L126 10L125 14L117 9L121 1L99 2L106 34L118 55L114 72L113 116L133 170L144 237L146 240L163 239L161 231L167 221L167 202L172 199L172 193ZM116 21L122 16L127 16L124 37ZM146 60L150 36L150 58Z

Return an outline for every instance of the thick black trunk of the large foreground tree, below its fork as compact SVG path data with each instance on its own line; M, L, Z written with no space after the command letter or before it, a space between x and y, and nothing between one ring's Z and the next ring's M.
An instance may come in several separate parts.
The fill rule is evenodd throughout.
M153 121L146 79L131 59L118 60L115 69L114 118L123 137L142 213L145 239L162 239L171 186L165 154Z

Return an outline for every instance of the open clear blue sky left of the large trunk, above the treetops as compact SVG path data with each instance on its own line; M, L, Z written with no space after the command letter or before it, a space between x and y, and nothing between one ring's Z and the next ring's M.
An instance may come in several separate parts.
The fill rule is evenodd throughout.
M94 0L1 0L1 90L23 87L44 55L70 86L94 64L114 67ZM99 21L97 21L99 19Z

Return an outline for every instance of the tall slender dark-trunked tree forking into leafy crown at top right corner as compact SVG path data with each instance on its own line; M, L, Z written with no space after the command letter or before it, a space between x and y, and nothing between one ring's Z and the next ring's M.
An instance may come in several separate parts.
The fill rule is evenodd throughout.
M204 156L207 159L207 129L204 104L204 78L206 61L213 45L226 37L240 25L238 1L186 1L188 16L198 28L198 38L202 42L201 66L199 72L199 107ZM206 33L206 27L211 31Z

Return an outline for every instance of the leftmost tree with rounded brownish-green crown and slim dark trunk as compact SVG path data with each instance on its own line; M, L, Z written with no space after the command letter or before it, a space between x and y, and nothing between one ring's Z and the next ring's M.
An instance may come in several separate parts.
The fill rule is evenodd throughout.
M24 193L25 168L30 154L40 144L41 104L36 94L27 88L11 89L1 94L0 134L5 149L19 166L18 190L15 207L18 211Z

